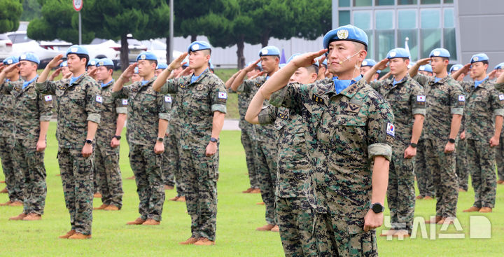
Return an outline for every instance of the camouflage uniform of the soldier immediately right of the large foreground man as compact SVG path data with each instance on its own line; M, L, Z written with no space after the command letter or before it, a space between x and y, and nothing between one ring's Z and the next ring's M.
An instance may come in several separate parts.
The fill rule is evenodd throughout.
M370 85L391 104L395 118L395 140L387 187L392 229L407 230L411 234L415 207L415 159L405 159L404 154L412 139L414 116L426 115L426 97L422 86L409 74L395 85L393 79L371 82Z

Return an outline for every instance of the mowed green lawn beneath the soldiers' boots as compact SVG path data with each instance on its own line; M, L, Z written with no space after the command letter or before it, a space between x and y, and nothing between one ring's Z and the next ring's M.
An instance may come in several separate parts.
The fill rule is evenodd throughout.
M218 216L216 246L181 246L178 243L190 236L190 217L182 202L165 202L162 222L159 226L128 226L127 221L138 217L138 196L132 180L123 180L125 195L121 211L94 211L92 239L58 239L70 229L69 213L65 208L61 178L57 165L57 141L55 123L50 123L45 167L48 173L48 196L42 221L8 221L22 207L0 207L0 256L283 256L278 233L255 231L265 225L264 206L260 195L243 194L248 188L244 151L239 140L239 131L224 131L221 134L221 164L218 181ZM127 158L125 140L121 145L121 171L123 178L132 176ZM0 175L3 180L3 173ZM1 184L0 184L1 185ZM3 188L3 185L1 185ZM175 195L166 191L167 199ZM436 239L421 238L387 241L378 237L381 256L502 256L504 250L504 186L498 186L496 209L486 214L491 221L491 239L470 239L470 215L461 210L470 207L472 188L461 193L458 202L458 218L463 231L457 232L453 225L448 232L436 226ZM0 202L8 200L0 195ZM94 207L102 204L94 199ZM435 201L416 202L416 216L428 218L434 214ZM386 210L388 214L388 209ZM473 225L472 228L475 228ZM381 231L381 229L379 229ZM379 232L378 231L378 232ZM463 233L464 239L437 239L440 234Z

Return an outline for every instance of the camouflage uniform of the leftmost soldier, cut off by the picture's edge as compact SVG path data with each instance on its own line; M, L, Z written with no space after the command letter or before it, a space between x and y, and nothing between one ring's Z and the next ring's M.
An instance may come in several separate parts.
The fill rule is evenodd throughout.
M22 85L22 80L5 81L2 88L10 85ZM13 168L13 148L14 148L14 113L13 96L5 89L0 92L0 158L3 175L5 176L8 198L11 202L23 202L25 183L24 176L20 170Z

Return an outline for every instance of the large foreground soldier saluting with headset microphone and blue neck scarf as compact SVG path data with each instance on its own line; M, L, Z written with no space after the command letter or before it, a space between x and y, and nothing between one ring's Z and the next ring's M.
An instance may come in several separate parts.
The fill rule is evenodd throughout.
M367 54L362 29L334 29L325 34L323 46L287 64L258 94L268 98L279 90L271 104L298 111L306 120L312 165L307 199L314 209L318 256L378 256L374 228L383 223L395 137L392 109L361 79L358 67ZM280 90L297 67L323 53L328 53L328 69L335 74L332 81Z

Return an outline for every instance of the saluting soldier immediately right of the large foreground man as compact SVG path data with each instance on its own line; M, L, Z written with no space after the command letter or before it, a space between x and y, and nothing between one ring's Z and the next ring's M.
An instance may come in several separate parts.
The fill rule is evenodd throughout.
M395 118L395 141L387 188L392 228L381 235L403 237L411 235L413 227L414 157L426 115L426 97L423 87L407 72L409 51L405 48L390 50L386 59L367 71L364 78L370 81L377 70L385 69L387 62L393 79L370 82L371 87L391 104Z

